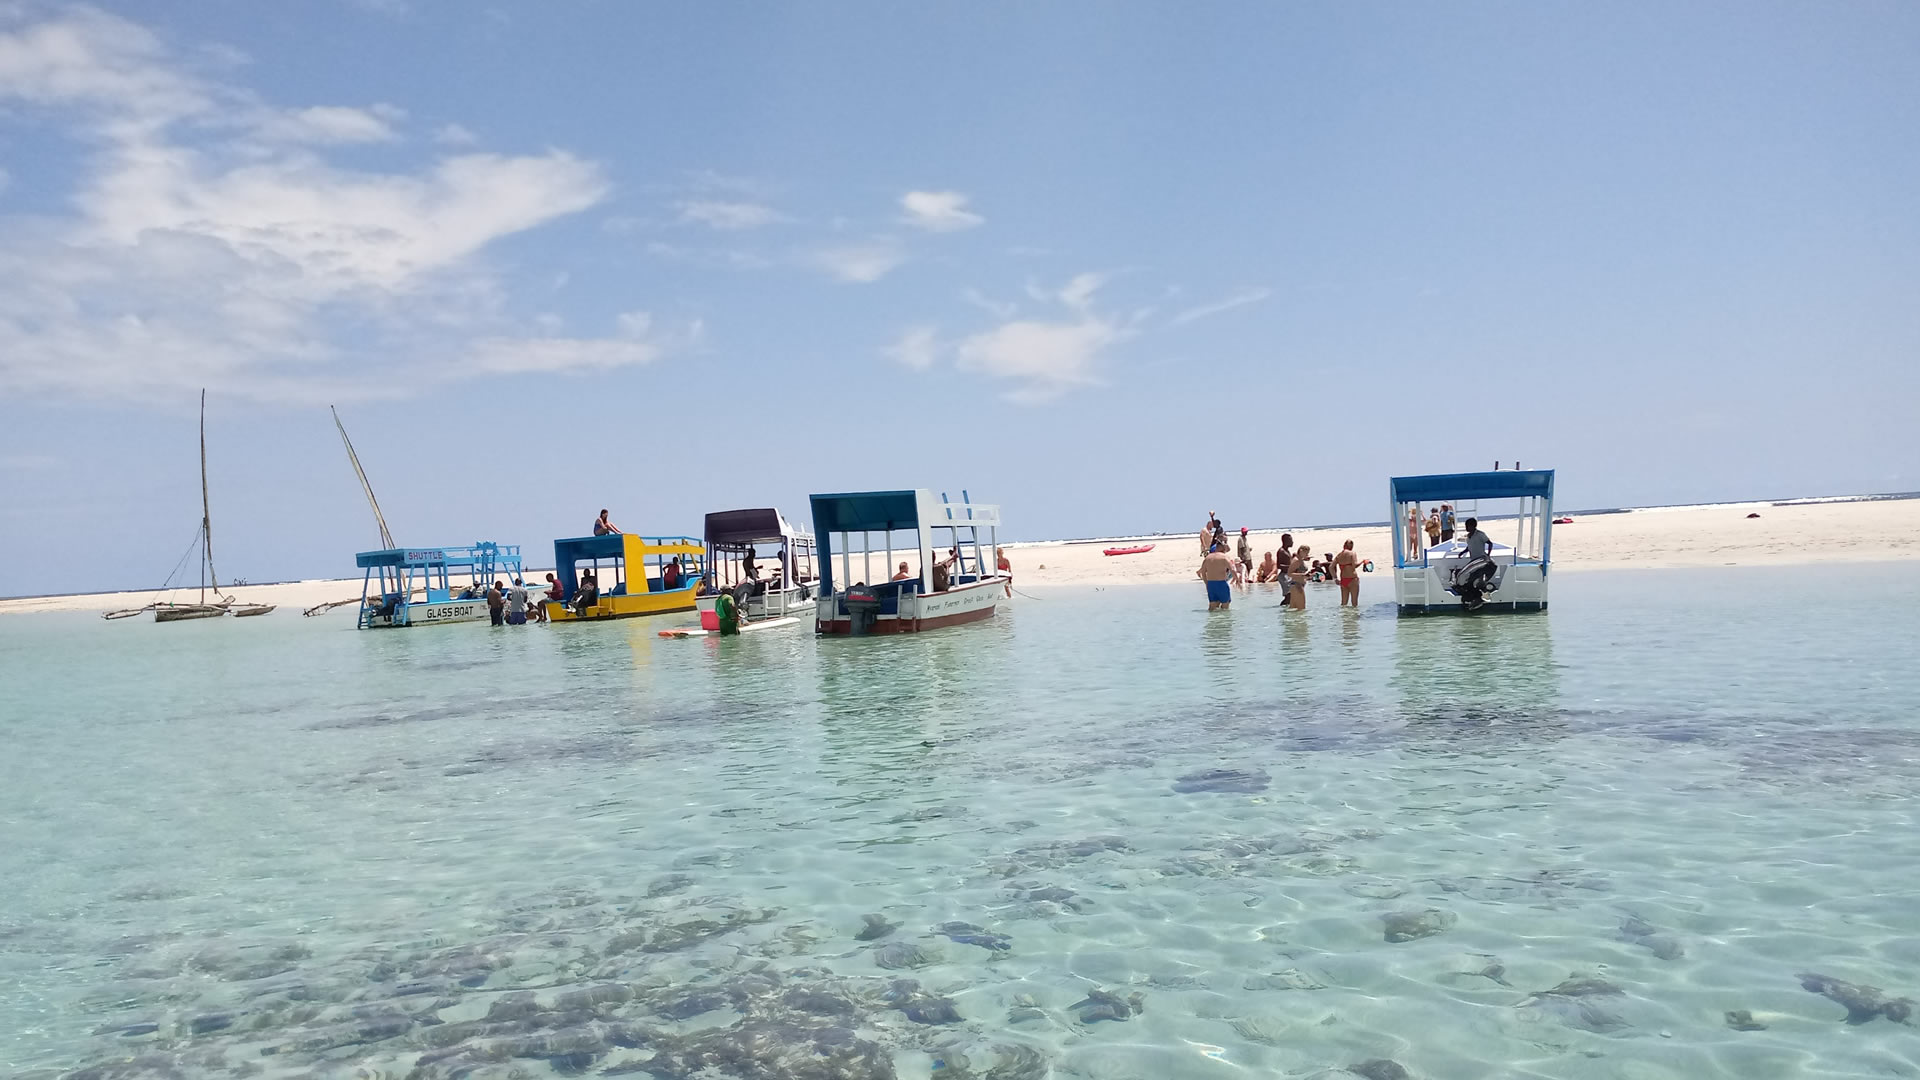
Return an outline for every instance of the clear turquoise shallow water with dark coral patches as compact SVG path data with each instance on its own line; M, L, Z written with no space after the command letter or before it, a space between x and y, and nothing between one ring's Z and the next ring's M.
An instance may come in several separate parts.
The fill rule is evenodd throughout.
M0 1072L1920 1076L1920 567L1332 600L0 619Z

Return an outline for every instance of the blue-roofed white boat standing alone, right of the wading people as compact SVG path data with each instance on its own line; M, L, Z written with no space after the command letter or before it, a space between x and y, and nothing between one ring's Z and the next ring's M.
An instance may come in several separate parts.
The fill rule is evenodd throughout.
M1442 611L1546 611L1553 561L1553 469L1394 477L1394 601L1402 615ZM1476 519L1486 553L1467 530L1425 546L1415 523L1446 507L1455 527ZM1505 536L1511 544L1494 542Z

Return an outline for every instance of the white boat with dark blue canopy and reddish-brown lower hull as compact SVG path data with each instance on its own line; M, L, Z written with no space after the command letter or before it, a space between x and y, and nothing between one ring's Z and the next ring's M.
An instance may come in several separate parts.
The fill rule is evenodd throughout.
M993 619L1006 598L1008 580L996 569L996 505L973 503L966 492L947 502L925 488L810 502L820 538L820 634L910 634L977 623ZM902 536L895 548L897 534L910 540ZM881 555L877 575L874 555ZM897 555L912 555L912 569L895 573Z

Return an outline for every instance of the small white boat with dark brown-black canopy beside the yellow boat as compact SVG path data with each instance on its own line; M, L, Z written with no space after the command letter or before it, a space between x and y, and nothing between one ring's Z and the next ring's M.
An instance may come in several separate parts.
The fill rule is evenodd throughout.
M718 626L714 605L732 592L749 625L812 611L820 588L814 534L783 513L718 509L707 515L707 580L697 600L701 625ZM708 619L712 615L712 619Z

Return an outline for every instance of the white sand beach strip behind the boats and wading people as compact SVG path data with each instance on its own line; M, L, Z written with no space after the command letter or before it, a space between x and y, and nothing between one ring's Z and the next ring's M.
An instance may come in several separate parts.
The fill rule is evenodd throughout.
M1749 513L1761 517L1749 519ZM1572 525L1553 528L1553 565L1563 571L1759 567L1786 563L1874 563L1920 559L1920 500L1834 502L1805 505L1728 503L1709 507L1661 507L1626 513L1572 515ZM1229 515L1231 521L1231 515ZM1507 542L1511 523L1494 523L1488 534ZM1352 540L1361 557L1390 565L1390 538L1373 528L1288 528L1296 544L1336 552ZM1248 534L1256 552L1279 546L1281 530ZM1114 586L1188 582L1200 565L1198 523L1194 532L1150 540L1144 555L1102 555L1104 542L1006 544L1018 586ZM908 555L908 559L912 559ZM874 555L879 569L881 557ZM885 575L876 575L885 577ZM540 571L532 573L540 580ZM1363 578L1365 582L1367 578ZM1371 580L1382 582L1377 577ZM1365 588L1365 584L1363 584ZM228 590L244 603L276 603L305 609L330 600L351 600L359 578L319 578L282 584L250 584ZM196 590L173 600L190 601ZM100 592L0 600L0 615L35 611L111 611L138 607L152 592Z

